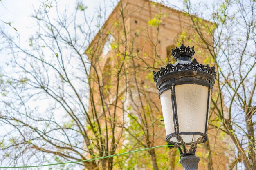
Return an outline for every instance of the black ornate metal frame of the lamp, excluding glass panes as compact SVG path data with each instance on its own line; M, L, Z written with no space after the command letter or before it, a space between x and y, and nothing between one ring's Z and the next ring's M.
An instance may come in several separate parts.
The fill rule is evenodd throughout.
M191 59L195 53L194 47L190 48L189 46L186 47L182 44L182 46L180 46L179 48L171 50L172 55L175 60L177 60L177 62L175 64L168 63L166 67L161 67L157 72L153 71L154 81L159 90L159 98L164 91L171 91L174 133L168 134L166 136L166 141L168 142L168 144L173 144L174 147L178 148L181 151L182 156L195 155L197 144L207 141L210 93L213 91L213 85L216 79L216 71L214 66L210 67L208 64L199 64L196 59L191 62ZM204 133L180 132L179 130L175 86L182 84L198 84L206 86L208 88L207 113ZM193 135L192 141L190 143L185 143L182 139L182 135ZM198 138L197 141L195 141L195 135L199 135L201 137ZM170 139L173 137L176 137L178 141L177 143L170 141ZM183 146L183 151L181 150L179 145ZM189 151L186 150L186 145L190 145Z

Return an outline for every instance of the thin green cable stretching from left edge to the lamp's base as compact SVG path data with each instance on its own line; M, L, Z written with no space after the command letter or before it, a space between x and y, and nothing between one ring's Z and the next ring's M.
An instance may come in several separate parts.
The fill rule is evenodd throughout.
M0 166L0 168L35 168L35 167L40 167L40 166L52 166L52 165L62 165L62 164L68 164L68 163L87 162L87 161L94 161L94 160L104 159L104 158L109 158L109 157L116 157L116 156L125 155L125 154L128 154L128 153L140 152L140 151L143 151L143 150L149 150L149 149L154 149L154 148L161 148L161 147L164 147L164 146L173 146L173 145L155 146L155 147L151 147L151 148L133 150L133 151L130 151L130 152L119 153L119 154L116 154L116 155L109 155L109 156L106 156L106 157L99 157L99 158L93 158L93 159L86 159L86 160L81 160L81 161L63 162L63 163L52 163L52 164L35 165L35 166L9 166L9 167L8 167L8 166ZM180 155L180 150L179 150L179 149L177 149L177 150L178 150L179 155Z

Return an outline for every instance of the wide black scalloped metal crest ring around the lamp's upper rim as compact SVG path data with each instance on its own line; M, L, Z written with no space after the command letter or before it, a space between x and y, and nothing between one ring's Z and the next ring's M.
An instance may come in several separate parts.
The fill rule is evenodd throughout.
M204 71L206 73L210 73L215 78L217 75L217 72L215 71L214 66L210 67L208 64L207 65L199 64L197 60L194 58L194 60L191 63L184 63L184 64L177 63L175 66L173 64L168 63L166 67L161 67L159 71L157 72L153 71L154 81L157 82L157 79L159 77L167 73L172 73L175 71L183 71L183 70Z

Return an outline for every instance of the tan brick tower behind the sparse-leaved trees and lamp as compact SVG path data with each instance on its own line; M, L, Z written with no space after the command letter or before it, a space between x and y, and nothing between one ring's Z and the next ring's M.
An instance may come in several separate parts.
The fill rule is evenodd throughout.
M211 24L205 20L202 22ZM95 69L99 70L98 81L93 82L93 86L103 88L101 97L97 95L97 88L94 90L96 94L94 100L99 102L104 100L110 113L115 110L112 107L114 104L118 106L117 122L125 129L129 129L135 123L141 128L141 135L133 131L124 132L133 138L124 137L121 139L121 144L135 141L135 144L145 148L166 144L164 123L160 121L162 119L160 100L151 71L159 69L168 62L174 62L170 54L171 48L175 48L180 43L186 46L194 45L192 41L184 39L193 35L192 28L191 18L181 11L149 0L121 0L88 46L85 53ZM211 37L207 34L206 37L211 42ZM198 62L204 63L207 56L204 48L195 46L195 49ZM91 104L89 109L92 109ZM101 110L97 106L94 109ZM120 135L118 129L116 135ZM227 169L229 160L223 156L222 148L214 148L215 152L222 156L211 155L210 144L214 143L214 135L215 132L210 131L209 142L203 144L203 147L198 147L197 153L201 157L199 168L202 170L211 169L207 166L214 166L214 170ZM157 161L161 152L167 152L168 159L164 164ZM155 170L161 169L161 166L168 166L171 168L169 170L182 169L177 166L175 149L150 150L148 154L149 158L145 162L151 161ZM150 168L138 166L137 169Z

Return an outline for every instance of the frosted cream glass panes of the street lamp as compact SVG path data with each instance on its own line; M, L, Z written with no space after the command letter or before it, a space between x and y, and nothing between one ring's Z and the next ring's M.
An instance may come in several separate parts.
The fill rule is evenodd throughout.
M182 84L175 86L176 109L179 134L185 143L197 141L204 137L207 129L209 109L208 101L209 88L197 84ZM211 95L211 93L210 93ZM211 97L211 96L209 96ZM166 135L173 136L168 139L170 142L178 143L175 132L175 121L173 119L173 99L171 90L166 90L160 95L162 112Z

